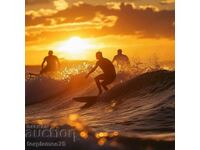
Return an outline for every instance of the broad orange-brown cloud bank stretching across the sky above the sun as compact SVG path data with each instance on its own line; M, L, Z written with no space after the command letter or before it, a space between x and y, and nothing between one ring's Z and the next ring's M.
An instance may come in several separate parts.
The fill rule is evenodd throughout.
M47 39L55 35L66 38L73 34L174 38L174 22L174 10L156 10L153 6L141 9L128 3L121 3L119 9L107 5L79 3L50 16L34 18L33 14L26 14L28 32L33 32L35 27L34 32L36 29L40 30L40 36Z

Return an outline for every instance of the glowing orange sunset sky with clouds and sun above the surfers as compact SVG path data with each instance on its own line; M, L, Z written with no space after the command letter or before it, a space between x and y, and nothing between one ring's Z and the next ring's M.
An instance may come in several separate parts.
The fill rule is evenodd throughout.
M40 64L48 50L59 58L130 59L155 55L174 61L174 0L26 0L26 65Z

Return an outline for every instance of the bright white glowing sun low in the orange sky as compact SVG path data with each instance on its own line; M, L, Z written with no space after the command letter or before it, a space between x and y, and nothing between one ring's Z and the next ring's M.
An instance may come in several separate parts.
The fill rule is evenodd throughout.
M78 55L84 53L91 47L89 40L80 37L71 37L67 41L61 42L57 50L66 52L69 55Z

